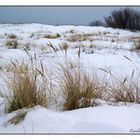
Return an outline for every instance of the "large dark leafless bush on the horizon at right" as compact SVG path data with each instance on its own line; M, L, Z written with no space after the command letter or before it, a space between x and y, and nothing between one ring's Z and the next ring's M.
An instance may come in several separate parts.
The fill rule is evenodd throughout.
M105 17L105 24L107 27L140 30L140 12L130 8L114 10Z

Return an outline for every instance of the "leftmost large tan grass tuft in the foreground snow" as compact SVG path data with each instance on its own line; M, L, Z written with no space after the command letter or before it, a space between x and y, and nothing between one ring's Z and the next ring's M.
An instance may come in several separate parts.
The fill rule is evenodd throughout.
M33 60L31 60L33 61ZM25 62L11 62L12 74L7 74L7 112L22 108L30 108L36 105L46 107L50 101L48 92L48 79L41 63L41 70L31 67Z

